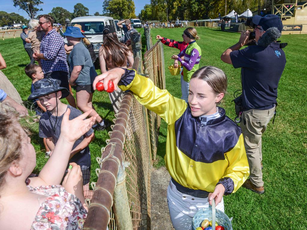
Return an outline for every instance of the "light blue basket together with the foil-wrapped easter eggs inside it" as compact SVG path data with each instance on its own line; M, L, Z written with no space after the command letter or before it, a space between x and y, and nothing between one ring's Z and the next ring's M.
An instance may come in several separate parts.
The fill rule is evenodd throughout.
M229 219L229 217L225 213L215 208L215 201L213 199L212 207L200 209L199 211L197 211L197 213L195 213L193 220L192 220L193 222L192 229L193 230L200 230L200 229L233 230L231 220L232 220L232 217L231 219ZM216 227L217 225L218 227ZM223 228L219 226L222 226ZM201 227L204 227L204 228L201 228Z

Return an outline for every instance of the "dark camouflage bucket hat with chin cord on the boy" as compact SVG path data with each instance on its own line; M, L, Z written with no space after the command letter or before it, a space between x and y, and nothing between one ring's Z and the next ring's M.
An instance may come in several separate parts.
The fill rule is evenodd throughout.
M28 100L33 100L57 91L62 92L62 98L66 98L69 94L68 90L64 87L60 87L58 80L56 79L41 79L34 83L34 91L30 94Z

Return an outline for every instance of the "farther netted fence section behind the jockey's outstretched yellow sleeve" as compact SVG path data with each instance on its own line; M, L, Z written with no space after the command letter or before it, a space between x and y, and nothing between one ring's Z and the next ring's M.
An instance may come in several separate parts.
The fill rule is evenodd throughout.
M165 89L165 66L163 44L158 41L144 54L144 75L150 78L160 89ZM152 111L148 111L150 143L153 160L156 160L157 144L161 117Z

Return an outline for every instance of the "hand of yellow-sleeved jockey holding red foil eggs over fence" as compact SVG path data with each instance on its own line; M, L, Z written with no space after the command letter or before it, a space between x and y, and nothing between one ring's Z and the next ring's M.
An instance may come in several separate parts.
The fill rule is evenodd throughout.
M113 81L114 83L114 90L117 90L117 84L120 81L120 79L122 78L122 75L125 73L125 70L123 70L122 68L114 68L111 69L103 74L98 75L94 82L93 82L93 88L94 90L96 90L96 84L98 82L103 82L103 87L105 89L108 88L108 82L109 81Z

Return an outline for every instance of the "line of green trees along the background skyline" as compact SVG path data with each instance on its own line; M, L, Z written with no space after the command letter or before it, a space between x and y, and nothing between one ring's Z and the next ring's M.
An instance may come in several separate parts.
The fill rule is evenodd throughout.
M274 0L278 2L279 0ZM30 18L35 18L37 13L42 10L39 5L43 4L41 0L13 0L14 6L19 7L28 13ZM144 9L138 15L142 21L158 20L158 21L175 21L195 20L216 18L218 13L222 16L231 10L237 13L243 13L247 8L252 11L258 9L258 4L262 9L270 9L271 0L151 0L150 4L146 4ZM73 19L75 17L89 16L89 10L81 3L74 6L74 12L69 12L62 7L54 7L49 13L56 22L65 24L65 19ZM135 5L133 0L104 0L102 12L105 16L114 19L135 18ZM99 12L95 16L101 15ZM8 17L8 16L7 16ZM6 17L6 18L7 18ZM20 16L21 17L21 16ZM2 20L3 21L3 20ZM0 23L2 23L0 20ZM20 20L19 20L20 21ZM22 20L21 20L22 21ZM4 23L4 22L3 22ZM4 23L7 24L7 23Z

